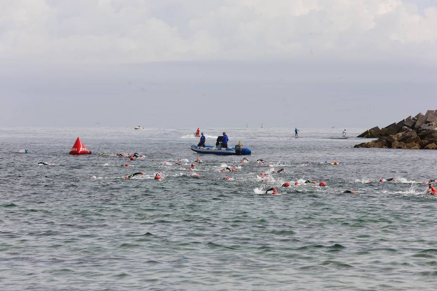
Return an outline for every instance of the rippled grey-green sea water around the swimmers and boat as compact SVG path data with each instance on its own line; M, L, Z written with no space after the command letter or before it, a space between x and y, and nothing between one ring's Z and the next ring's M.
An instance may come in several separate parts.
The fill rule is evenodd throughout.
M208 144L223 129L202 130ZM0 289L435 290L437 197L422 181L437 151L354 149L342 129L226 130L250 162L194 153L191 129L1 129ZM77 136L93 155L68 155ZM128 151L145 158L116 156ZM200 178L186 170L198 156ZM327 187L294 186L306 179Z

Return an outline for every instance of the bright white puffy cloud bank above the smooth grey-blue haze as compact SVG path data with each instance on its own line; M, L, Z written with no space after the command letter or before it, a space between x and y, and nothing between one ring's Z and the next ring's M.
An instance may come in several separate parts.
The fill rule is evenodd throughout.
M6 0L0 61L437 61L437 9L401 0Z

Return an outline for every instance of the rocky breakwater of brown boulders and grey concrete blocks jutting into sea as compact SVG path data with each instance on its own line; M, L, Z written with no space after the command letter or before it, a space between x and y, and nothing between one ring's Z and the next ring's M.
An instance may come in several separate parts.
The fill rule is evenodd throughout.
M386 147L404 149L437 149L437 110L428 110L415 117L407 117L398 123L380 129L374 127L358 137L377 140L354 147Z

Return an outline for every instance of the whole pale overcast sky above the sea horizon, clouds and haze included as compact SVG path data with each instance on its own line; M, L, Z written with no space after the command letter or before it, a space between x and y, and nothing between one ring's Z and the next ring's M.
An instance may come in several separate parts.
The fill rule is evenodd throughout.
M1 128L371 128L437 109L437 0L0 3Z

